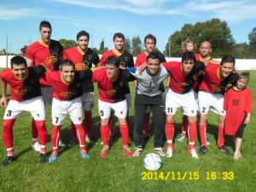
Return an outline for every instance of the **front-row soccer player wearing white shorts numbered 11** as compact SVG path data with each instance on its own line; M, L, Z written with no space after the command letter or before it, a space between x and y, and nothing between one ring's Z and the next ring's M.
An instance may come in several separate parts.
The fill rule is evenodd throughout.
M207 67L208 62L205 62L196 61L195 54L186 51L183 53L181 62L170 61L163 64L171 73L170 89L166 93L166 157L172 157L175 113L177 108L182 108L183 114L187 115L189 119L188 152L192 154L192 157L199 158L195 150L197 103L195 102L194 90L192 88L198 73Z

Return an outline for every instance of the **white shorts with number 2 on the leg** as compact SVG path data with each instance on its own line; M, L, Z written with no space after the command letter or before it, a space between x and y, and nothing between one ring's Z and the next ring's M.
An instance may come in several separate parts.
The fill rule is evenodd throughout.
M204 90L198 92L198 105L199 111L202 114L207 114L209 109L219 115L226 115L226 111L223 108L224 95L212 94Z

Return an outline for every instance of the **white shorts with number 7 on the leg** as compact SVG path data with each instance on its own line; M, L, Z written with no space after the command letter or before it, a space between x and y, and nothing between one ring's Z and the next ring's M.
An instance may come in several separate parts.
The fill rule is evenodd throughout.
M69 114L70 119L73 124L79 125L83 122L83 108L81 97L75 98L71 101L61 101L53 98L51 117L53 125L62 125L67 114Z

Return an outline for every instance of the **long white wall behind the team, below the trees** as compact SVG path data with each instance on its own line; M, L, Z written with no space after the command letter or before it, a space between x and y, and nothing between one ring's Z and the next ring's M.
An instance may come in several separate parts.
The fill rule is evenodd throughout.
M8 63L10 59L13 57L13 55L8 56ZM134 61L136 61L137 57L133 57ZM220 61L221 59L214 59ZM166 57L166 61L181 61L181 58L179 57ZM6 67L6 55L0 55L0 67L5 68ZM8 67L10 67L10 64L8 64ZM256 59L236 59L236 69L237 70L256 70Z

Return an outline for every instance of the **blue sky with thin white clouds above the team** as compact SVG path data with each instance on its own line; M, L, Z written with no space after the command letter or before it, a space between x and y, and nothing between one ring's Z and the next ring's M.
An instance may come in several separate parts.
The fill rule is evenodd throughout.
M90 33L90 47L113 49L113 34L143 38L150 32L163 51L168 37L184 24L194 25L212 18L225 20L236 43L248 43L256 27L255 0L1 0L0 49L15 53L25 44L37 41L41 20L52 25L52 39L76 40L79 31Z

